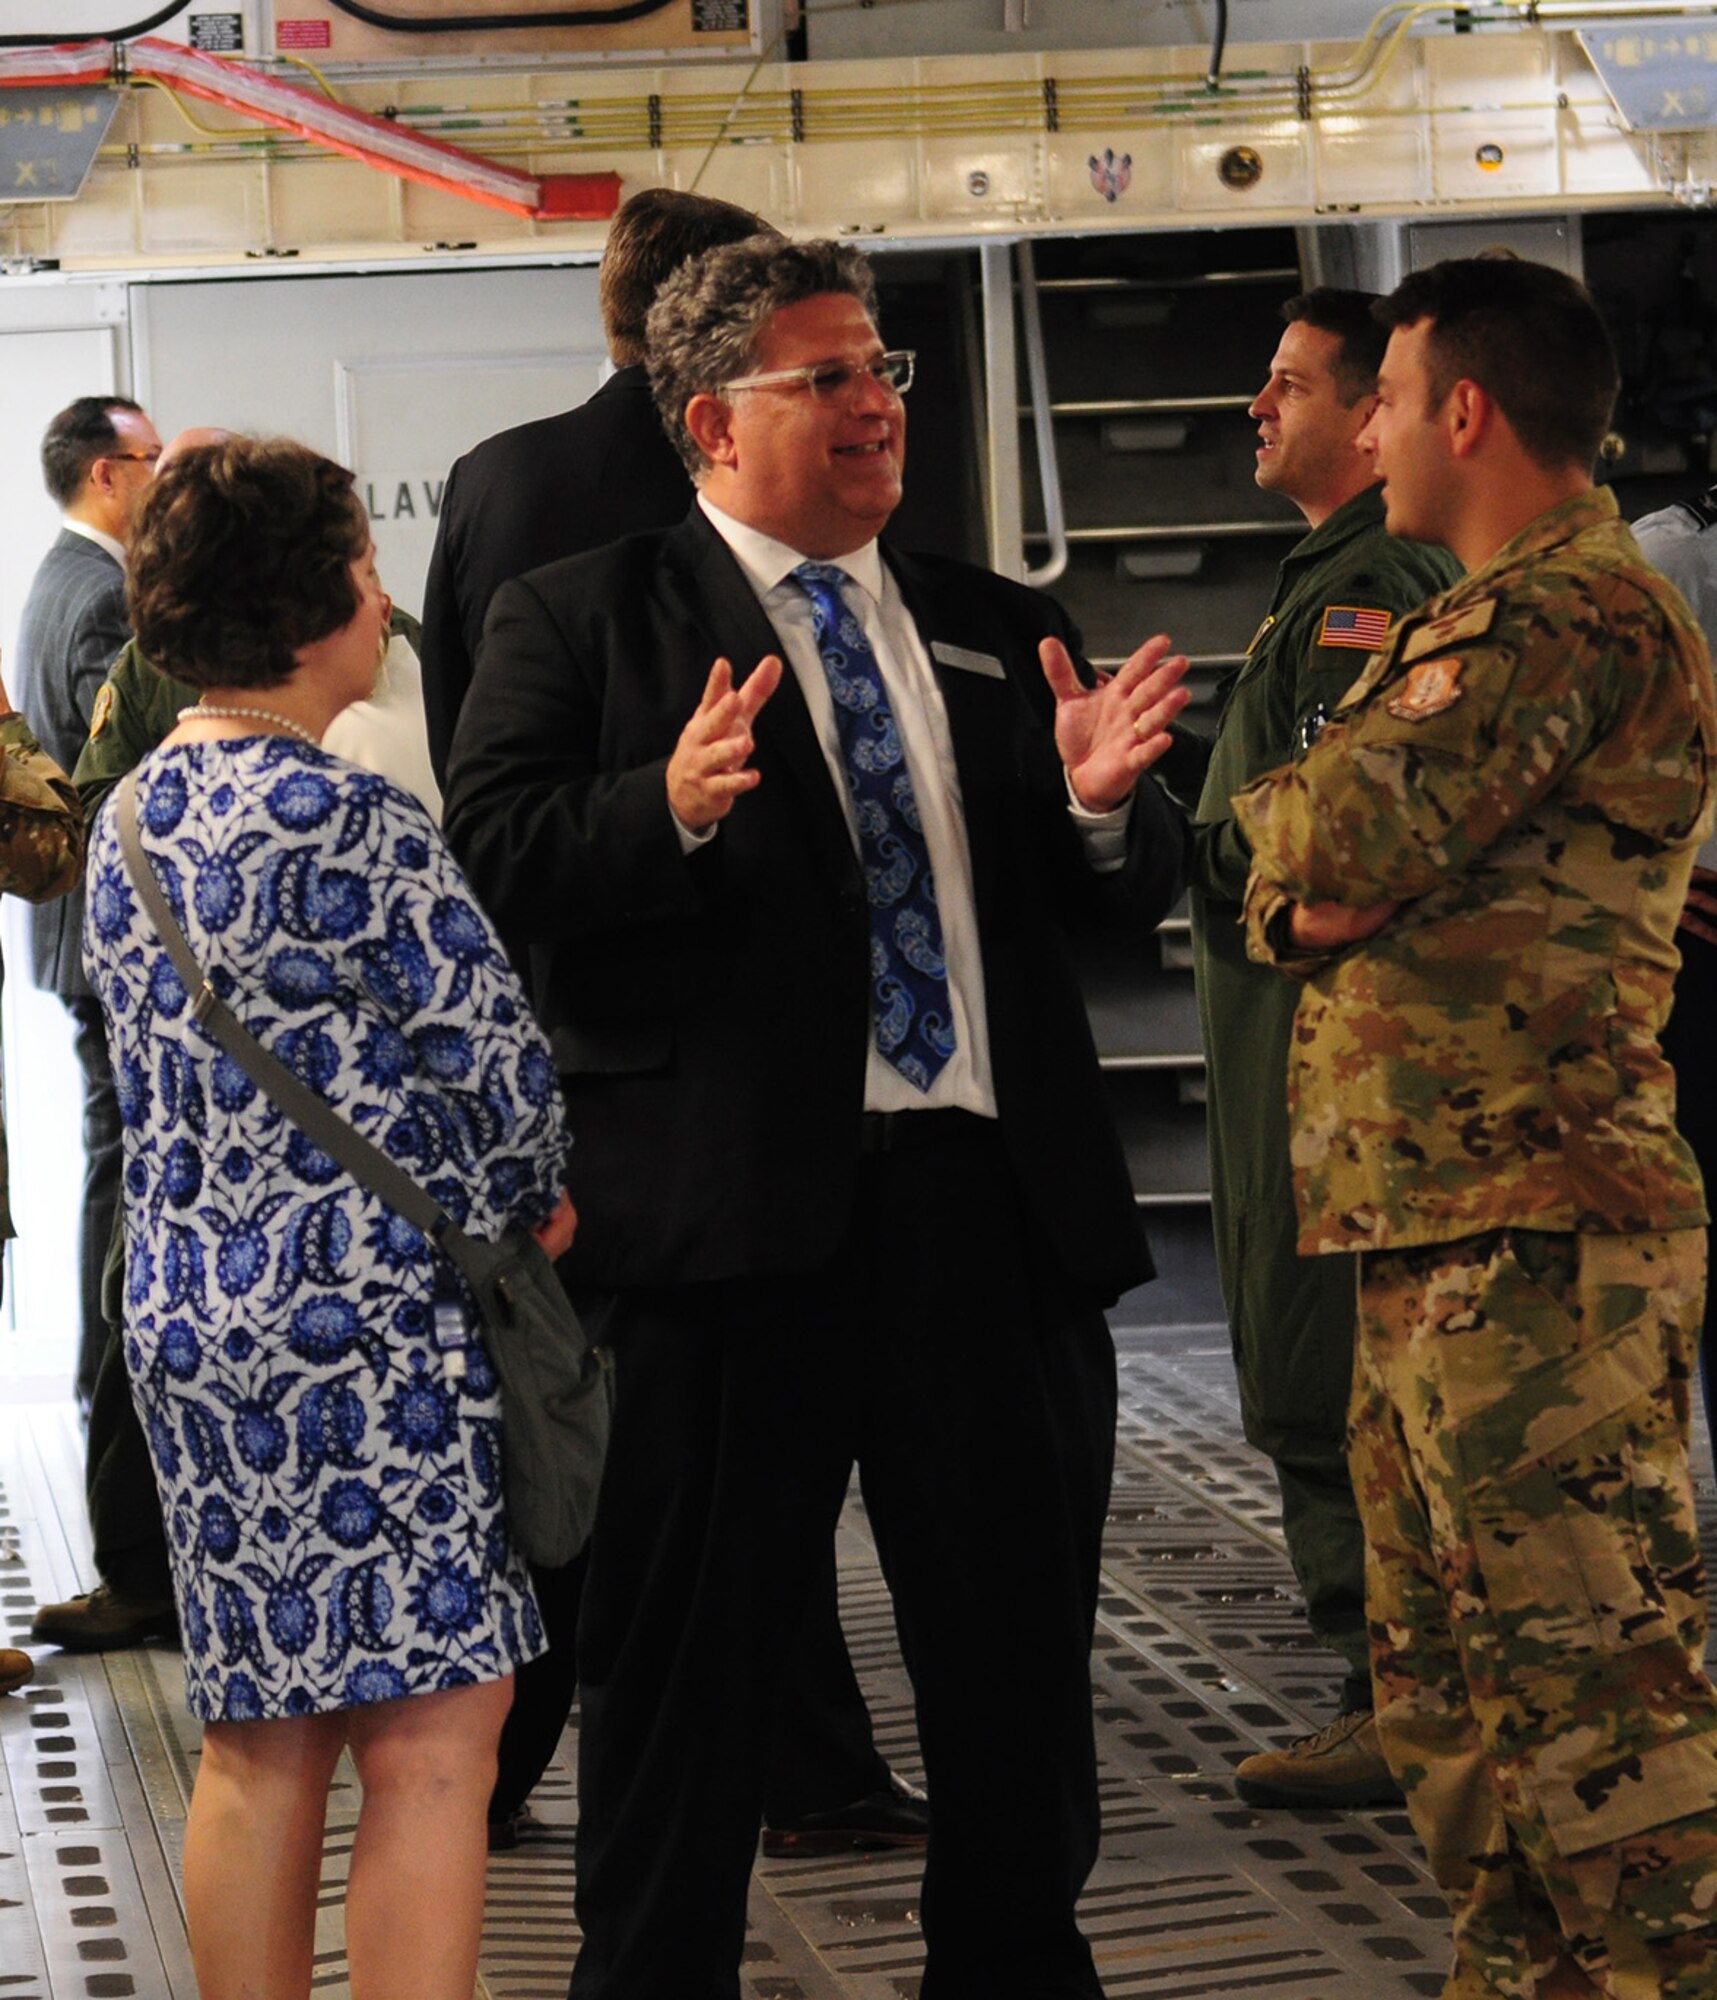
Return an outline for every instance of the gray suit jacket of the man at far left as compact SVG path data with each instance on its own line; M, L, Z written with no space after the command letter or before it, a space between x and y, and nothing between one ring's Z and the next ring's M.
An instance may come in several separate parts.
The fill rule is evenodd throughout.
M60 770L90 734L90 708L132 636L126 572L88 536L62 528L24 598L12 694ZM30 982L62 1000L88 998L84 892L26 910Z

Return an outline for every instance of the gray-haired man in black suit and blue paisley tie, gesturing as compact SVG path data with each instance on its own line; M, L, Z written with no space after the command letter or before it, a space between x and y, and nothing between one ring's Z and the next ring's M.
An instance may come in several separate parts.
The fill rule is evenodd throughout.
M854 1458L935 1800L927 1992L1101 1994L1103 1302L1151 1264L1065 922L1179 892L1135 784L1185 662L1089 686L1047 598L883 554L911 356L873 296L838 244L668 280L650 376L698 506L502 586L450 762L610 1296L578 2000L736 2000L776 1636Z

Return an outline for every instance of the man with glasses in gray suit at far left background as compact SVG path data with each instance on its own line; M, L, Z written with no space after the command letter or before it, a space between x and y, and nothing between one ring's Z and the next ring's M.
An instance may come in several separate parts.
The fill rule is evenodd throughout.
M78 762L96 688L130 638L126 542L158 458L154 424L126 396L80 396L42 438L42 478L64 520L18 622L18 700L60 770ZM102 1010L84 980L82 894L30 912L30 980L64 1000L84 1072L76 1388L88 1406L106 1346L102 1258L120 1190L120 1110Z

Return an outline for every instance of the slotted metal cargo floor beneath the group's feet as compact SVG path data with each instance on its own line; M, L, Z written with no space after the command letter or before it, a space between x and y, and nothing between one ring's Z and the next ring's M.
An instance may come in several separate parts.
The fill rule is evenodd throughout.
M1443 1902L1401 1812L1255 1812L1251 1750L1327 1720L1339 1664L1299 1616L1269 1466L1239 1442L1221 1330L1121 1342L1121 1436L1095 1680L1103 1856L1085 1922L1111 2000L1409 2000L1447 1964ZM0 1388L4 1394L4 1388ZM1709 1466L1703 1430L1697 1464ZM995 1468L997 1480L1007 1466ZM1711 1482L1701 1478L1701 1508ZM1709 1524L1707 1524L1709 1526ZM0 1640L88 1586L82 1436L64 1404L0 1410ZM840 1532L846 1634L883 1752L921 1776L889 1600L856 1500ZM178 1900L196 1724L170 1650L42 1652L0 1702L0 2000L194 2000ZM971 1674L1007 1674L1003 1614ZM574 1716L576 1726L576 1716ZM1019 1728L1031 1728L1021 1714ZM488 1870L482 2000L560 2000L572 1924L572 1732L536 1824ZM356 1792L328 1812L316 1990L346 1994L338 1892ZM762 1862L746 2000L911 2000L919 1864ZM1007 1908L995 1922L1007 1926Z

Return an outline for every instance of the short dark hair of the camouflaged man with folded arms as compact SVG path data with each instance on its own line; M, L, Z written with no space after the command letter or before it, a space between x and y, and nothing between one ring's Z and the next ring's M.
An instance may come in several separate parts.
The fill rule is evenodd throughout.
M1389 328L1431 322L1425 362L1433 412L1457 382L1477 382L1529 458L1549 470L1591 470L1621 370L1609 328L1579 280L1525 258L1447 258L1403 278L1375 312Z

